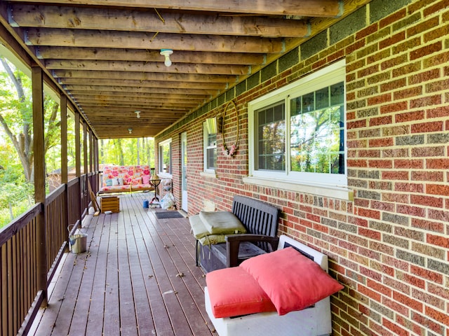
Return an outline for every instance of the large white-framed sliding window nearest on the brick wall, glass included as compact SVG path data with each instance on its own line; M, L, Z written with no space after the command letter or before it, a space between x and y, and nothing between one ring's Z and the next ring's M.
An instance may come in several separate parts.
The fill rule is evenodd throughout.
M248 104L247 182L319 195L347 188L344 79L341 61Z

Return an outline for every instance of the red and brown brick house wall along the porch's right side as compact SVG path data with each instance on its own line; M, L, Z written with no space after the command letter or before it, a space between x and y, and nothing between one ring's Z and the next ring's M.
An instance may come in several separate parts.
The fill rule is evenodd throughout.
M236 194L266 200L283 211L279 233L329 255L330 274L345 285L331 300L333 335L449 336L446 6L448 1L372 1L158 139L176 139L179 155L179 134L187 131L189 214L204 200L230 209ZM243 183L247 103L343 57L354 202ZM229 99L239 109L239 151L226 158L219 150L217 177L201 176L202 123L222 113ZM227 111L225 125L236 118ZM228 130L231 144L236 132Z

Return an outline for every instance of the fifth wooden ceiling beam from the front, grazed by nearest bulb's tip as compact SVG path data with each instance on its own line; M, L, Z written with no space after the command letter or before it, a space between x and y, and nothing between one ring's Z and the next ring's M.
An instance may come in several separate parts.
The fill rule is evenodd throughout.
M163 59L161 59L163 61ZM77 59L47 59L49 70L96 70L96 71L134 71L161 73L203 73L207 75L249 75L250 66L222 64L172 64L165 66L163 62L126 62L126 61L91 61Z

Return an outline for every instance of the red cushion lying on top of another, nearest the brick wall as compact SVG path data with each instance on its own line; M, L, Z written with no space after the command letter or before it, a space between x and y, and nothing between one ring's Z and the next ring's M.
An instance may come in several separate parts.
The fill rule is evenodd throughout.
M307 308L344 288L293 247L257 255L240 267L259 283L279 315Z

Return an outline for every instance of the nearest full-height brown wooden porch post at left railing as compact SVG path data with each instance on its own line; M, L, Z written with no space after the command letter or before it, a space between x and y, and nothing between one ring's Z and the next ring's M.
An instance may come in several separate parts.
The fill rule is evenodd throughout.
M37 286L43 291L42 306L47 305L47 248L46 248L46 195L45 195L45 150L43 130L43 73L42 69L32 66L33 96L33 151L34 151L34 200L41 203L41 211L36 217L37 241Z

